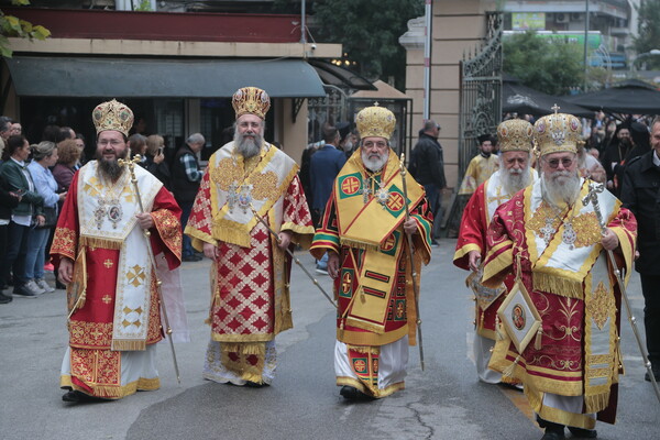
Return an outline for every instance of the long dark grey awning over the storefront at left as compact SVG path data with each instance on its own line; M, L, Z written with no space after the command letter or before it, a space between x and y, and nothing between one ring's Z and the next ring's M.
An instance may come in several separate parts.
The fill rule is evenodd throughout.
M255 86L273 98L326 96L302 59L6 58L20 97L228 98Z

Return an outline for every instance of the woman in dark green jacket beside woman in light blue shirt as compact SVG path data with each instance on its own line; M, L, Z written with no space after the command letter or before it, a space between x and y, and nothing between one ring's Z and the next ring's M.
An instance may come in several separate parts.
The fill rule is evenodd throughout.
M7 252L0 263L2 285L10 282L13 270L14 296L32 298L38 296L38 290L30 289L25 278L25 251L30 238L31 226L43 224L43 197L36 191L32 175L28 169L30 144L22 135L10 136L3 152L0 176L7 183L8 190L22 196L20 204L12 209L7 234Z

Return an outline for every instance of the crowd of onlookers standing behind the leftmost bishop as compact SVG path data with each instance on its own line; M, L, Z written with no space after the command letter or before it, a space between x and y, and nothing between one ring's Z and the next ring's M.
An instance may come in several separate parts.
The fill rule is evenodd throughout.
M191 153L186 161L179 162L179 156L167 161L163 136L136 132L143 121L131 128L130 157L140 155L140 165L174 193L187 220L201 179L195 153L206 141L200 133L191 134L180 147ZM0 117L0 304L66 288L56 277L47 280L46 273L57 271L50 249L74 175L98 158L86 157L85 148L85 136L69 127L47 125L41 142L31 143L20 122ZM184 261L201 260L187 238L184 250Z

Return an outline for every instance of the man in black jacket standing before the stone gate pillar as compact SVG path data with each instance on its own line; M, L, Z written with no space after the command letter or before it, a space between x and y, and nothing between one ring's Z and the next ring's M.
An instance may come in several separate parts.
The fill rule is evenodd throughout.
M439 224L441 218L440 191L447 187L444 160L442 146L438 142L438 134L440 134L440 125L432 120L425 122L424 129L419 133L419 141L415 144L410 157L410 173L424 186L436 219L435 224ZM431 245L438 245L436 238L431 239Z

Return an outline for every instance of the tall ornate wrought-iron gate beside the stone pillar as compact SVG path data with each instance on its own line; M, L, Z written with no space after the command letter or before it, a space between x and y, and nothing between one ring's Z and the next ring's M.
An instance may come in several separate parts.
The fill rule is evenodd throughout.
M502 13L487 12L484 43L474 54L463 55L460 63L459 180L443 222L450 237L458 233L466 202L457 194L468 164L479 152L476 138L483 133L495 134L502 119Z

